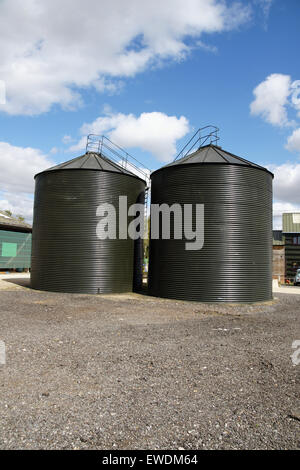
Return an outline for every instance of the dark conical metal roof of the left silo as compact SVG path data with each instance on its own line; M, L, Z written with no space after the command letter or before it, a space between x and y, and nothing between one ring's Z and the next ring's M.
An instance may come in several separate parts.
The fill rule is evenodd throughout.
M116 162L113 162L103 154L94 152L87 152L84 155L68 160L67 162L60 163L59 165L48 168L38 174L46 173L48 171L59 171L59 170L99 170L109 171L113 173L122 173L129 176L139 178L131 171L123 168ZM35 175L36 177L37 175ZM139 178L141 179L141 178Z

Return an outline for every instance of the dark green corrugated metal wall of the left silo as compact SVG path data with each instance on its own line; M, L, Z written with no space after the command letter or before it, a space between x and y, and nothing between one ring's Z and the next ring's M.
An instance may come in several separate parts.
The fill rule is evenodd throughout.
M118 234L119 196L127 195L130 206L144 190L140 179L113 172L60 170L37 175L32 287L90 294L132 291L135 242L99 240L96 210L102 203L115 206Z

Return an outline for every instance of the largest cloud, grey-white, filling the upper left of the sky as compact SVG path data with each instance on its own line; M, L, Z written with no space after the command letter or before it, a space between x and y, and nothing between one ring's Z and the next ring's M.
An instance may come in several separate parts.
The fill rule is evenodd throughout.
M115 92L122 79L182 60L202 33L249 20L243 2L224 0L2 0L0 78L10 114L72 109L80 90Z

